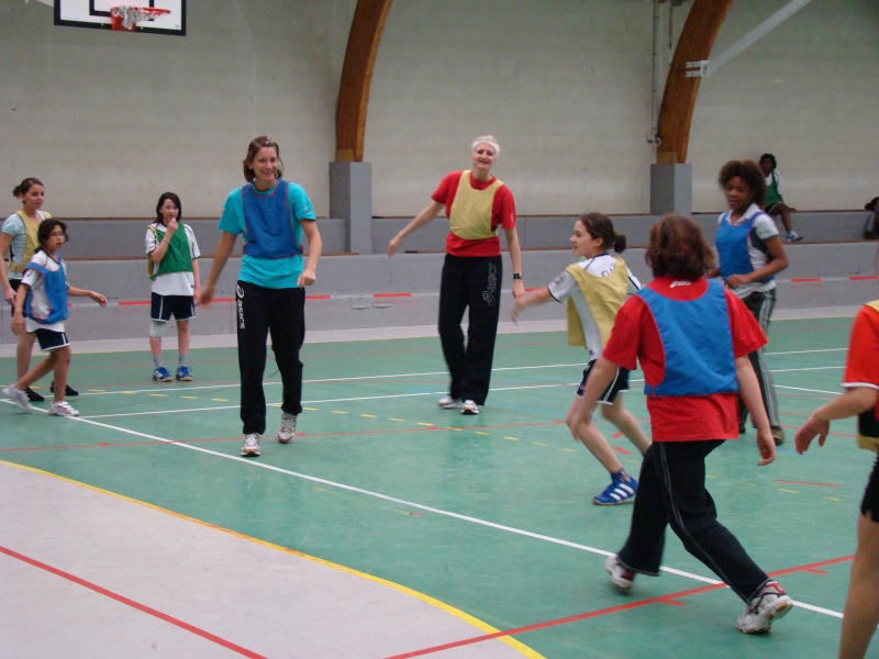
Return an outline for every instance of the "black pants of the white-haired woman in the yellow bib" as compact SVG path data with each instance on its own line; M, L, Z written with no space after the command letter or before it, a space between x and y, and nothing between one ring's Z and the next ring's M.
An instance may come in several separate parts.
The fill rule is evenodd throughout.
M446 254L439 284L439 340L452 398L486 403L500 317L503 267L498 256ZM467 344L460 323L468 312Z

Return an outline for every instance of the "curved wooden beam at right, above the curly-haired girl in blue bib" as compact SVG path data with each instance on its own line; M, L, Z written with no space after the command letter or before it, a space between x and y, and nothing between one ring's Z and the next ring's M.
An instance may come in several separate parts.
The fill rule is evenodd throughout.
M699 77L687 77L687 63L709 58L714 38L734 1L693 0L678 40L678 47L675 48L663 92L663 104L656 125L661 141L656 152L657 165L687 161L690 123L701 81Z

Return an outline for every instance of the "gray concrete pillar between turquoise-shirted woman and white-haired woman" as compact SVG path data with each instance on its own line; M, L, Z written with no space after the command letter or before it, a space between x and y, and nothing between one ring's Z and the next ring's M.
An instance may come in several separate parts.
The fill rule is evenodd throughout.
M348 252L372 254L372 167L330 163L330 216L346 220Z

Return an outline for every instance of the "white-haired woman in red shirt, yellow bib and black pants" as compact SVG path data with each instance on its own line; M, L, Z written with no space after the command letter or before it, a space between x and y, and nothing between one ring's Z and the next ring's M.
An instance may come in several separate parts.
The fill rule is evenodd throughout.
M490 172L500 150L491 135L477 137L470 149L472 169L446 175L431 204L388 244L388 256L393 256L403 237L445 209L450 231L439 284L438 331L450 382L448 395L437 404L444 410L460 405L461 414L479 414L491 381L503 281L499 228L507 234L513 264L513 298L525 292L513 193ZM465 345L460 323L468 309Z

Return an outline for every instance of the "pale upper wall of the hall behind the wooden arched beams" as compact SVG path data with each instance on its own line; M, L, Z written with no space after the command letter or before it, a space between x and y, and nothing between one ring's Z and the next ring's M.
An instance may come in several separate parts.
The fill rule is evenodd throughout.
M737 0L714 53L787 0ZM687 1L663 30L679 33ZM47 187L62 216L148 216L158 194L215 216L267 133L329 213L335 100L355 0L190 0L187 35L55 26L43 2L0 3L0 182ZM412 215L493 133L522 214L649 210L649 0L398 0L378 53L366 134L374 213ZM813 0L703 79L688 161L693 210L715 176L769 150L801 210L859 209L879 189L879 2ZM664 40L667 41L667 40ZM660 82L661 89L661 82Z

